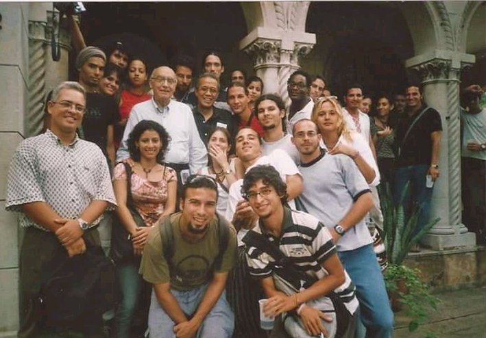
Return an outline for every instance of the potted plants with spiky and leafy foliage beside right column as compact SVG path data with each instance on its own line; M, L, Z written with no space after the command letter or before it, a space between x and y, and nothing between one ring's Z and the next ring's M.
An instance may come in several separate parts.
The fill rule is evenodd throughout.
M404 194L408 189L407 186ZM421 281L420 270L406 267L406 265L403 265L403 261L410 248L439 222L439 218L426 224L414 236L412 235L413 229L417 225L420 208L415 207L409 219L406 220L403 203L394 205L389 187L380 188L378 192L383 213L382 238L389 263L384 272L385 285L393 311L400 311L404 307L407 315L411 317L409 331L412 332L424 323L428 316L429 307L437 309L438 300L430 294L430 287ZM435 335L428 333L428 337L435 337Z

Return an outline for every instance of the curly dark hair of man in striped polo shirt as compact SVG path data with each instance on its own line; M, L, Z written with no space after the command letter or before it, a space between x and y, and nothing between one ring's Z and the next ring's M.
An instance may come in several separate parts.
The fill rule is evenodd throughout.
M256 166L250 169L243 178L243 185L241 186L241 194L247 196L250 188L256 184L257 181L262 180L263 184L270 185L275 189L282 205L287 205L287 183L282 181L280 174L270 165Z

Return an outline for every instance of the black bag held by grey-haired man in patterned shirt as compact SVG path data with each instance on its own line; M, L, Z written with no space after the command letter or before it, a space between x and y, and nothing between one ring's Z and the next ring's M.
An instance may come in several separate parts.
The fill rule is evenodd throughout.
M86 318L114 307L114 265L101 246L86 245L82 255L69 257L62 248L45 265L40 302L49 327L75 327Z

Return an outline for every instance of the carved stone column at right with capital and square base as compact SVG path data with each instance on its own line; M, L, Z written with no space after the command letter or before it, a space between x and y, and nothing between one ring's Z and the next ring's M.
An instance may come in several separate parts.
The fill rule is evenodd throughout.
M439 222L422 239L435 250L474 246L476 237L461 223L461 140L459 84L461 68L474 63L474 55L436 50L406 60L406 67L422 79L424 100L441 114L442 138L439 179L435 182L430 220Z

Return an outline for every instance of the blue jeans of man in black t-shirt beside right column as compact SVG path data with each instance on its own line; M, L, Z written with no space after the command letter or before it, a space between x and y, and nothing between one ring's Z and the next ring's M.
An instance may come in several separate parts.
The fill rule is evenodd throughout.
M395 172L393 187L393 203L395 205L400 203L405 185L409 183L409 191L404 195L403 199L405 220L409 219L415 206L420 207L417 226L412 232L412 238L424 228L430 216L430 200L432 199L433 187L425 186L428 168L427 164L420 164L419 166L399 167Z

